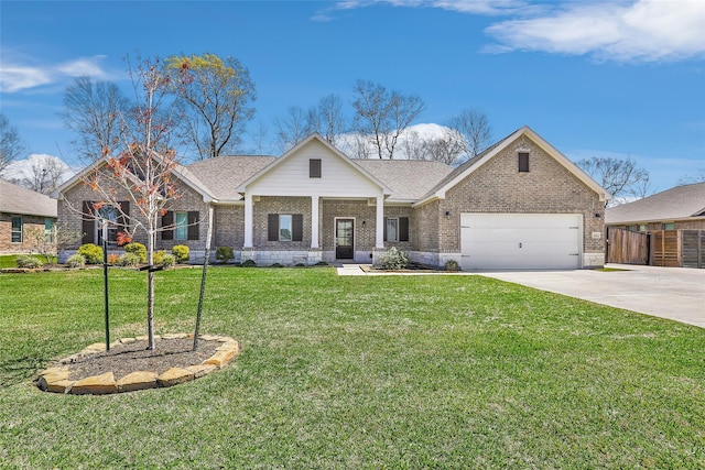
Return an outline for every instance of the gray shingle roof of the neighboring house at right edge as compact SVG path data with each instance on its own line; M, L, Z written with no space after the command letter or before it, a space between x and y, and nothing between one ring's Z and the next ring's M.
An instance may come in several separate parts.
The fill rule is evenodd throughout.
M676 186L605 211L605 222L636 223L705 217L705 183Z

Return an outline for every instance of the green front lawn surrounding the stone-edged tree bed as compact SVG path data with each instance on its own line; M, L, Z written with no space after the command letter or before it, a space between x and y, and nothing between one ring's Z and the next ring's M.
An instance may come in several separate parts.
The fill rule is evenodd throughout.
M113 337L144 274L111 272ZM199 270L158 273L158 332ZM209 271L203 331L243 352L171 389L39 392L104 338L100 271L0 274L2 468L705 467L705 331L481 276Z

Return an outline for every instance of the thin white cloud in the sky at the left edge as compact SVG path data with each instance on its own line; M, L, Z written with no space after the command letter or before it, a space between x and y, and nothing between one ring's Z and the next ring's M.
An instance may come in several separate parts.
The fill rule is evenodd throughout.
M28 65L26 62L4 57L0 65L0 91L17 92L29 90L43 85L51 85L63 81L68 77L79 77L84 75L96 79L108 78L108 73L101 67L100 62L104 55L91 57L79 57L73 61L47 64L44 66Z

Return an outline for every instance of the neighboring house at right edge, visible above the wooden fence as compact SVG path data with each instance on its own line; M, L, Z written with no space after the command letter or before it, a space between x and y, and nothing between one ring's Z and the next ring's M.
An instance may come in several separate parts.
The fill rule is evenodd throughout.
M605 223L640 232L705 229L705 183L676 186L610 207L605 214Z

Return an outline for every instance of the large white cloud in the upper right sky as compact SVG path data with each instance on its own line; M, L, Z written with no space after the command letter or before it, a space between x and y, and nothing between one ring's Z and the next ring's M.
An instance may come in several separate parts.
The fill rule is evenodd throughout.
M592 54L599 59L659 62L705 55L703 0L564 3L534 18L487 28L487 52Z

